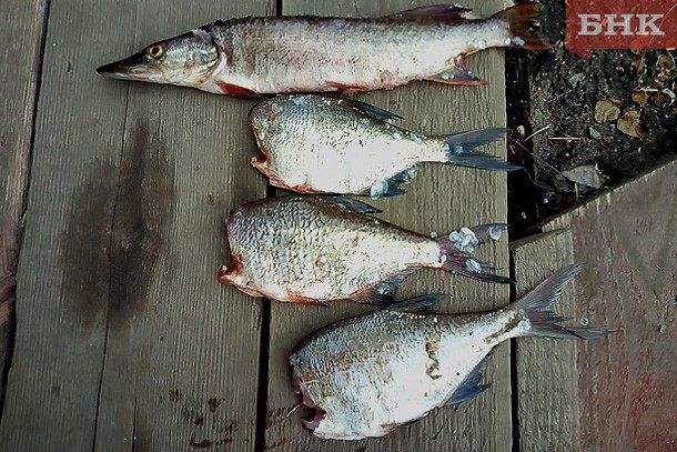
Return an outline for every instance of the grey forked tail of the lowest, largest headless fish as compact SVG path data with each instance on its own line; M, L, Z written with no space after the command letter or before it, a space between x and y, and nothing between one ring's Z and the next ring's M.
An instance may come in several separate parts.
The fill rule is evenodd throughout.
M532 335L552 339L598 339L608 335L612 331L595 330L592 328L563 327L558 323L567 320L557 315L548 307L557 301L564 287L572 282L582 265L568 265L543 281L536 289L522 299L508 305L528 321L528 329L519 335Z

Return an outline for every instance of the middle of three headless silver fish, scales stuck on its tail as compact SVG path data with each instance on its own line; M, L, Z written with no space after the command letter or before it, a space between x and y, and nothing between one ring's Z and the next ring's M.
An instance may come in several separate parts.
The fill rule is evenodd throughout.
M219 281L254 297L327 304L387 304L400 283L423 267L507 283L469 255L502 224L462 228L431 238L378 220L372 205L342 197L281 197L251 202L228 219L233 264Z

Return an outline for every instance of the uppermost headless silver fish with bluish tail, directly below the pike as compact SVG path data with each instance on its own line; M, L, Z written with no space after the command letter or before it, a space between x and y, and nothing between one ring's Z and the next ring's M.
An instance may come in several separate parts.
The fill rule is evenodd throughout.
M279 96L255 104L250 125L261 155L252 165L276 187L300 193L404 193L421 162L516 170L475 150L504 129L424 135L391 124L400 118L364 102L310 94Z

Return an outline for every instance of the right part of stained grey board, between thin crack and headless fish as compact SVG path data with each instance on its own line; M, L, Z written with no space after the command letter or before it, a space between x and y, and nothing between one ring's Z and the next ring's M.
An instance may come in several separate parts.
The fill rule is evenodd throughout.
M266 14L269 6L144 2L135 47L215 19ZM265 197L264 178L249 164L251 104L130 86L112 249L112 281L128 288L111 293L122 309L109 318L98 450L254 446L261 304L216 281L228 257L225 217Z

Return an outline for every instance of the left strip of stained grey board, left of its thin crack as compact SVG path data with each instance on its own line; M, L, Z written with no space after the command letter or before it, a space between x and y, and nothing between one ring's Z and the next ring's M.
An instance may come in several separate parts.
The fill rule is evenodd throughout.
M102 49L131 50L131 7L50 8L1 450L92 446L127 92L93 69Z

